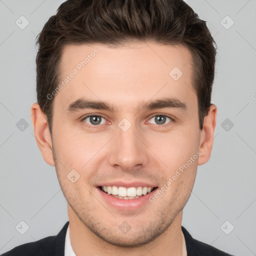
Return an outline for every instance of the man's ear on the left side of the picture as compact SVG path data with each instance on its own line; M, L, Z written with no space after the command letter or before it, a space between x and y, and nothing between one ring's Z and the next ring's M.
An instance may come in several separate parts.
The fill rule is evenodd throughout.
M33 103L31 106L31 121L36 143L41 151L44 161L49 165L54 166L49 126L45 114L42 112L38 103Z

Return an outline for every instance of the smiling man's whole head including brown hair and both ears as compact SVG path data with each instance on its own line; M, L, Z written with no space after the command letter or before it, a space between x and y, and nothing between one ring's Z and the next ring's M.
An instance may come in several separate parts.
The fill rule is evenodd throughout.
M112 244L155 239L210 157L216 50L205 21L182 0L67 0L37 42L32 123L70 212ZM153 184L158 196L116 209L99 191L115 181Z

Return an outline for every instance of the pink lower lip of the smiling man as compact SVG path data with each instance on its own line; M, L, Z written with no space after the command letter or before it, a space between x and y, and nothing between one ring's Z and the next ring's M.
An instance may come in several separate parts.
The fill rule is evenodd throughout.
M100 187L96 187L99 194L103 197L104 200L108 202L111 206L120 209L120 210L135 210L141 208L146 202L149 202L149 197L157 190L153 189L150 193L142 195L134 199L120 199L103 192Z

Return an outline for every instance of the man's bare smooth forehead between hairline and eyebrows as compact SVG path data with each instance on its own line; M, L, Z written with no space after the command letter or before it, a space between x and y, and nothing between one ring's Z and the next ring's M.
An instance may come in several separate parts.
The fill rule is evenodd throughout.
M137 109L141 100L169 96L189 106L196 103L191 64L192 55L182 45L66 45L59 81L63 86L54 101L66 108L70 102L86 97L102 99L118 109Z

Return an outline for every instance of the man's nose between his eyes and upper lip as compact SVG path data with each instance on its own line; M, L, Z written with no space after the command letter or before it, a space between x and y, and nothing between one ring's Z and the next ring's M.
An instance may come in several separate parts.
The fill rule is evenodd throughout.
M108 155L109 164L125 171L146 166L150 150L135 125L126 131L117 126L116 132Z

